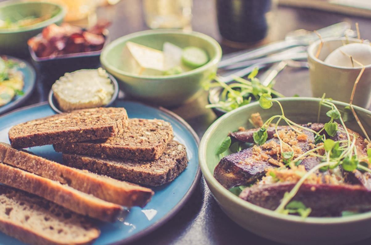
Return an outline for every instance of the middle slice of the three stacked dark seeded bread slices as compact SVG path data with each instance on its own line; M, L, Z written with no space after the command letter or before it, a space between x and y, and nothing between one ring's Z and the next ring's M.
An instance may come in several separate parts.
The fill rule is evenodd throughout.
M154 160L164 154L168 142L173 140L173 128L169 122L157 119L129 119L124 131L114 137L86 142L55 144L58 152L123 158Z

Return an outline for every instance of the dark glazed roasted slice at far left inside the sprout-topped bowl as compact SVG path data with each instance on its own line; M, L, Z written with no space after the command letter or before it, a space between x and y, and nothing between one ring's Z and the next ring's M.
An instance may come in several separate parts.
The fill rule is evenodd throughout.
M277 143L278 140L272 139ZM253 148L223 157L214 169L214 177L221 185L229 189L239 185L249 185L263 177L265 169L274 167L268 161L257 161L253 157Z

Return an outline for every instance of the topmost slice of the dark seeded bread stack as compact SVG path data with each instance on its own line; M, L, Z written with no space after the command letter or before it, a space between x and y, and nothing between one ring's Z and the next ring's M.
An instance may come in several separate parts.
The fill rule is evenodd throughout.
M112 137L126 127L124 108L92 108L24 122L9 130L13 148L51 145Z

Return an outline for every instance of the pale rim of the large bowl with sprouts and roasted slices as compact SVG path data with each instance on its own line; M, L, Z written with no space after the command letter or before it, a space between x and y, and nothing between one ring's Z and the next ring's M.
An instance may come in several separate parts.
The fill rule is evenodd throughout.
M285 98L278 98L277 99L280 102L283 101L316 101L319 103L321 100L320 98L312 98L312 97L285 97ZM340 101L332 101L335 105L341 105L346 106L349 105L348 103L340 102ZM244 201L243 199L237 197L236 195L232 194L229 190L224 188L211 174L209 171L209 168L207 167L206 163L206 149L207 149L207 142L209 141L209 137L211 132L216 130L216 128L219 126L220 122L224 119L228 118L230 115L235 114L239 111L243 111L246 108L252 107L259 104L259 102L254 102L248 105L244 105L242 107L239 107L233 111L230 111L220 118L218 118L211 126L207 129L205 134L203 135L200 147L198 150L198 158L199 158L199 164L201 167L202 174L204 175L206 182L208 185L212 185L217 191L223 195L224 198L229 199L231 202L234 202L235 204L239 205L242 208L249 209L252 212L259 213L260 215L264 215L269 218L275 218L280 219L282 221L290 221L290 222L296 222L296 223L306 223L306 224L342 224L347 222L358 222L361 220L371 219L371 211L365 212L362 214L355 214L347 217L308 217L303 219L302 217L294 216L294 215L284 215L284 214L278 214L272 210L265 209L262 207L259 207L257 205L251 204L250 202ZM358 107L353 106L356 111L363 111L364 113L371 114L370 111ZM262 109L263 110L263 109Z

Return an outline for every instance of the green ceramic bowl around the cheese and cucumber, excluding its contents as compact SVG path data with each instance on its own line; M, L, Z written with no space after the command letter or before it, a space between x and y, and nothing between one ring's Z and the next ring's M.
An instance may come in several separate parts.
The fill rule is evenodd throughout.
M207 51L210 61L194 70L177 75L135 75L124 71L123 48L127 41L162 50L168 41L181 48L196 46ZM216 73L221 58L220 45L213 38L194 31L148 30L120 37L108 44L102 51L101 63L104 68L118 78L125 93L140 100L157 105L172 106L192 100L201 91L203 83L210 81Z

